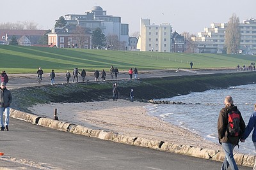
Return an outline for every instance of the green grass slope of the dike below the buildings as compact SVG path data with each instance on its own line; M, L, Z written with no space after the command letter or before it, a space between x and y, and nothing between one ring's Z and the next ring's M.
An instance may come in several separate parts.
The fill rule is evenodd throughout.
M161 53L161 52L132 52L112 50L84 50L70 48L44 48L35 46L0 45L0 71L7 73L36 73L38 67L44 72L56 73L79 70L109 71L111 65L120 71L138 67L147 69L188 69L189 62L193 68L236 67L237 64L246 66L256 61L253 55L222 55L210 53Z

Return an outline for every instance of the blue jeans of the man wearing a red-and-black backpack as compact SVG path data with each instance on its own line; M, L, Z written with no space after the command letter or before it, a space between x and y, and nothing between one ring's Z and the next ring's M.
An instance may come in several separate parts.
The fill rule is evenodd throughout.
M221 166L221 170L227 170L228 166L232 170L238 170L238 167L236 165L236 161L234 159L233 150L235 148L235 145L232 143L222 143L223 150L225 152L225 160Z

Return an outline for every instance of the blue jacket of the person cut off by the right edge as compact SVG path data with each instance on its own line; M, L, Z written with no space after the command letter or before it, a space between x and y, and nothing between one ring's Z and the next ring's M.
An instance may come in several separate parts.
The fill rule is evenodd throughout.
M252 132L253 130L253 132ZM241 139L248 138L249 134L252 132L252 141L256 142L256 111L252 113L248 125L246 126L244 135Z

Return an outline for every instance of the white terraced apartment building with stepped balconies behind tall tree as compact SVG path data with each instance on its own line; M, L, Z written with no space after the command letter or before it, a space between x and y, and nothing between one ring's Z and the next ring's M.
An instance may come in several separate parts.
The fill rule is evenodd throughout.
M225 29L227 24L211 24L204 32L198 32L198 36L191 39L196 42L199 53L222 53L225 46ZM241 32L241 49L250 49L248 54L256 53L256 20L244 20L239 24Z

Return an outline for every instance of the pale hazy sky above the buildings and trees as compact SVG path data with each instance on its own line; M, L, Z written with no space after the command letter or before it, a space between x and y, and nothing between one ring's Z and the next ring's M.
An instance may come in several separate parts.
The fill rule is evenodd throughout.
M52 29L66 14L83 14L100 6L107 15L122 17L129 34L140 31L140 18L151 24L169 23L173 31L191 34L204 31L211 23L227 23L232 13L242 22L256 18L255 0L1 0L0 23L33 21L40 29Z

